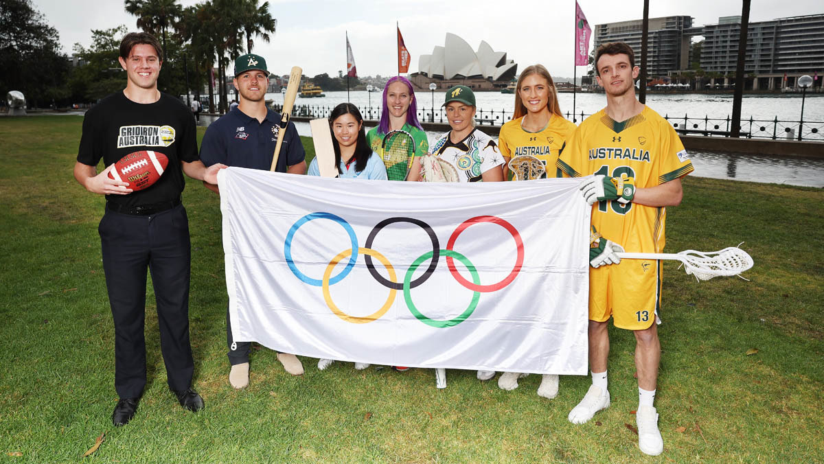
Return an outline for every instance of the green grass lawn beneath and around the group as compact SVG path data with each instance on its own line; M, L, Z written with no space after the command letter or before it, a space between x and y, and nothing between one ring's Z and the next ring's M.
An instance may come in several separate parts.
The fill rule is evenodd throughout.
M185 412L166 388L149 288L149 381L133 421L115 429L114 337L96 231L105 202L72 176L81 125L77 116L0 118L0 462L824 460L824 191L693 177L683 204L667 212L667 250L744 241L756 265L749 282L697 283L666 263L660 457L642 455L625 425L634 425L638 403L625 330L611 330L612 405L578 426L566 416L589 377L561 377L549 401L536 396L540 376L502 391L474 372L450 371L449 387L437 390L429 369L335 363L320 373L304 359L307 373L292 377L258 349L250 387L234 391L219 201L194 180L184 192L190 321L194 387L206 408Z

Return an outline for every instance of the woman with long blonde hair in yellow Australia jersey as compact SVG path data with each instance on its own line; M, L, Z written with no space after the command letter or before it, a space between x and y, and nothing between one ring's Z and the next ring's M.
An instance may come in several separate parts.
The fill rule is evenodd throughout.
M498 138L505 161L504 178L509 178L509 160L519 155L541 160L546 171L544 178L559 176L555 162L574 130L575 124L561 115L558 91L550 72L541 64L524 69L517 80L515 114L503 124Z

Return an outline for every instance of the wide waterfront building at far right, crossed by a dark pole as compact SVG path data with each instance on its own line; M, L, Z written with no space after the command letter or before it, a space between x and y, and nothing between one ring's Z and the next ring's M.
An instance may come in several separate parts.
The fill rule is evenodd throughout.
M719 17L718 24L704 26L701 68L734 74L740 34L741 16ZM750 22L744 73L747 90L793 88L804 74L824 75L824 14ZM821 82L812 86L820 89Z

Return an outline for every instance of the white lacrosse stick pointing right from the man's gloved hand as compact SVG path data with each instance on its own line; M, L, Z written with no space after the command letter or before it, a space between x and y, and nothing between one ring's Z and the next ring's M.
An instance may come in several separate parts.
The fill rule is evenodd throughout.
M750 269L753 264L752 257L747 254L747 251L736 246L706 253L686 250L680 253L616 253L616 255L621 259L630 260L679 260L686 274L695 275L695 279L698 280L730 275L741 277L740 274Z

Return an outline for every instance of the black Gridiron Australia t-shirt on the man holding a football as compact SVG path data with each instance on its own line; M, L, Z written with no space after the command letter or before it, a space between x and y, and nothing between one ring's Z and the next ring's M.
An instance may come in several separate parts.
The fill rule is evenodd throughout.
M180 162L198 161L194 116L175 97L161 93L154 103L135 103L122 91L105 97L86 112L77 162L105 166L131 152L151 150L169 158L157 183L129 195L106 195L106 200L133 208L180 197L185 180Z

